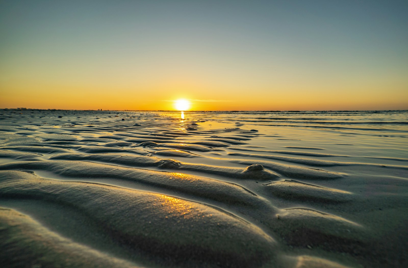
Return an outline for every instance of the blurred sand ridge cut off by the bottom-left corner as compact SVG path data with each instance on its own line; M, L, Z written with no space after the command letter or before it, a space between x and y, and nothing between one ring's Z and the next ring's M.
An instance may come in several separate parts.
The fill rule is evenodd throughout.
M0 207L0 229L3 267L137 267L74 243L11 209Z

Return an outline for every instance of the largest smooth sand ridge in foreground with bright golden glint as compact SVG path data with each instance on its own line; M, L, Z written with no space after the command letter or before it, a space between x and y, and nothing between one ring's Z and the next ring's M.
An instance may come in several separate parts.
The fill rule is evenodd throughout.
M273 258L275 243L269 235L210 206L95 183L40 179L21 171L2 171L0 178L3 197L40 198L61 204L61 209L78 209L112 239L173 264L194 259L207 265L255 267Z

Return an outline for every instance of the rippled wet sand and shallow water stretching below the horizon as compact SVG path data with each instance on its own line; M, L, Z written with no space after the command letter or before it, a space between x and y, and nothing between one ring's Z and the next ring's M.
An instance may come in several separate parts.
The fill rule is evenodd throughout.
M0 110L4 267L406 267L408 112Z

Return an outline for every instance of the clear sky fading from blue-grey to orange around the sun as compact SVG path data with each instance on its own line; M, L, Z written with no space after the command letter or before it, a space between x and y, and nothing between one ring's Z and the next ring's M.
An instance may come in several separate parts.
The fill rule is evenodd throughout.
M0 0L0 108L408 109L408 1Z

